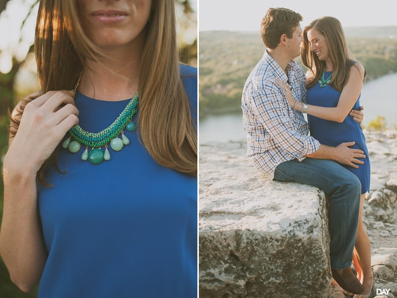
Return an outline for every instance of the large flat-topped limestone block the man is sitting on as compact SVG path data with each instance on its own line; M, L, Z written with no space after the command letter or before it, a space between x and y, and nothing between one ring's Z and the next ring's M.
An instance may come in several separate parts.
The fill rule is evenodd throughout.
M324 193L236 166L200 169L199 297L331 297Z

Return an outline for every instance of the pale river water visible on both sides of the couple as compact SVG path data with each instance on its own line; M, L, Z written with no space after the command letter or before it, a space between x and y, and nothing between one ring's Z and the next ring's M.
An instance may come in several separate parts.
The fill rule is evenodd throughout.
M360 104L364 106L366 126L377 116L384 116L388 128L397 126L397 73L366 82ZM245 139L241 113L208 115L199 119L199 144Z

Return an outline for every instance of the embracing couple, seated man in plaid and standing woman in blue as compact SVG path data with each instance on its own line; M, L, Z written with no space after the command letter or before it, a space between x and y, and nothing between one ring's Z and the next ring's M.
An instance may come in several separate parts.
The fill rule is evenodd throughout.
M337 19L316 19L303 32L301 21L286 8L270 8L262 20L266 51L242 97L247 157L270 179L324 190L332 277L345 295L367 298L373 273L362 213L370 162L359 112L365 70ZM306 75L293 61L299 55Z

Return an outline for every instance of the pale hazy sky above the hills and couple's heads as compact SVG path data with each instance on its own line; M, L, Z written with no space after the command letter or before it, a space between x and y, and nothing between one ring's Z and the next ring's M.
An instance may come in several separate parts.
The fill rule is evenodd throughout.
M270 7L303 16L302 27L321 16L334 16L343 27L397 26L396 0L199 0L199 31L259 31Z

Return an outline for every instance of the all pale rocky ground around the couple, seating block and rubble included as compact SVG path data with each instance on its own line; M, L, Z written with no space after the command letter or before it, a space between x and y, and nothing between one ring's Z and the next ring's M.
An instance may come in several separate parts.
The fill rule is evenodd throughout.
M371 191L364 204L375 275L371 297L390 290L384 297L393 298L397 131L365 135L371 160ZM323 193L266 180L245 159L245 151L245 140L200 145L200 298L331 297L328 231L320 220ZM381 291L383 296L376 296Z

